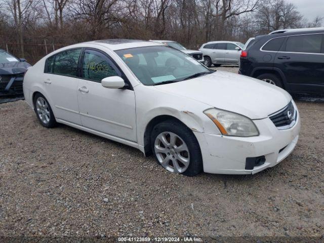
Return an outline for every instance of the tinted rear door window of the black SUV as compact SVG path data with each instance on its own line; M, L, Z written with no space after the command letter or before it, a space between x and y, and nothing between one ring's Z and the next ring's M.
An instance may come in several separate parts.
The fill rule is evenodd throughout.
M286 43L286 52L320 53L321 34L291 36Z

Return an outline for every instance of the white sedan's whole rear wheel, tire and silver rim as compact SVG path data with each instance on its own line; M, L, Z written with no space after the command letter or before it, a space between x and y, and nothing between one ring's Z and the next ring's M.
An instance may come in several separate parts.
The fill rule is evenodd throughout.
M34 111L42 126L53 128L57 125L52 108L41 93L37 93L34 97Z

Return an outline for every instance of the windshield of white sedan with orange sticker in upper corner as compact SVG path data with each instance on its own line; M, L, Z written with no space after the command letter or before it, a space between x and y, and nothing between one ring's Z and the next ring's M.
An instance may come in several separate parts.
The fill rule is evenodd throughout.
M187 54L168 46L115 51L144 85L174 83L212 73Z

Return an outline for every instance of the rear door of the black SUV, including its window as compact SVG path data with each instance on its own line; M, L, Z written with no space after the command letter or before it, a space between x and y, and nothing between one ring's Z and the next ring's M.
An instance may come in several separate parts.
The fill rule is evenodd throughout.
M293 92L324 92L323 34L289 36L277 52L274 67L280 68Z

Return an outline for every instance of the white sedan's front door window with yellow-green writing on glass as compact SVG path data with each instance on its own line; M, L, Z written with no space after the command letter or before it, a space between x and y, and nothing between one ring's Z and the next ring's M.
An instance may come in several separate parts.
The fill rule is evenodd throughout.
M105 77L119 76L108 57L98 51L85 50L83 77L101 83Z

